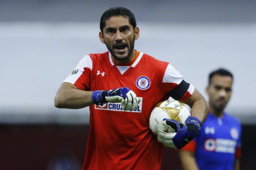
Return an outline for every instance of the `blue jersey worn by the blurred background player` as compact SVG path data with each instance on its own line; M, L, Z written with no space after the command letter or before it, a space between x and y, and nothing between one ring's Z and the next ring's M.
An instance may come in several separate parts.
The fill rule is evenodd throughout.
M193 142L200 170L233 170L236 154L241 156L241 124L227 113L222 117L209 113Z

